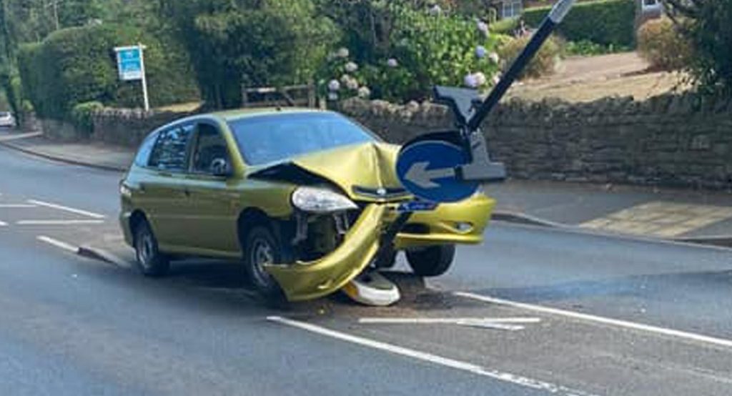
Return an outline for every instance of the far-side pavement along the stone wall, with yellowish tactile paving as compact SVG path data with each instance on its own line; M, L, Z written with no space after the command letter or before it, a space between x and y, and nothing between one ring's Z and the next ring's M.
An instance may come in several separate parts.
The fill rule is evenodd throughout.
M119 172L126 171L134 157L127 148L59 143L40 134L0 132L0 145ZM732 190L509 180L485 186L485 191L498 201L495 220L732 246Z

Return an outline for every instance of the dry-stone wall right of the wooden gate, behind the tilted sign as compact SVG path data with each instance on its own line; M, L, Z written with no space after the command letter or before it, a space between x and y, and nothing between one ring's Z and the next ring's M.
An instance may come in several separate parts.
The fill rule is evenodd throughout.
M397 143L452 123L447 108L430 103L349 100L340 110ZM483 130L493 157L516 179L732 188L728 100L512 100L490 114Z

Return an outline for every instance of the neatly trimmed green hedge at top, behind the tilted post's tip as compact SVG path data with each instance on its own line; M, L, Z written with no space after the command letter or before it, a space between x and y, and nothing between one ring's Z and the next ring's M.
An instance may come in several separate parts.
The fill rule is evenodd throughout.
M523 12L526 24L539 26L551 7ZM632 47L635 36L635 1L600 0L578 3L558 28L570 41L588 40L601 45Z

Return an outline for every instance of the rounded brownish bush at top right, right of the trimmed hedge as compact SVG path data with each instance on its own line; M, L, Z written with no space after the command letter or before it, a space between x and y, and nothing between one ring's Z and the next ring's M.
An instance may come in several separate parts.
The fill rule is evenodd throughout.
M643 23L638 29L638 53L658 70L681 70L692 61L689 40L668 18Z

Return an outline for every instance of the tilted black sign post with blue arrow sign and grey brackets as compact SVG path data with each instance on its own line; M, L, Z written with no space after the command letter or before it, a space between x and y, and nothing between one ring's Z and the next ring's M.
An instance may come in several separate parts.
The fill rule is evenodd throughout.
M493 91L483 100L476 89L435 87L435 98L455 115L457 130L430 133L406 143L397 158L397 176L417 198L457 202L471 196L479 183L501 182L506 169L490 160L480 124L567 15L575 0L559 0L534 32Z

